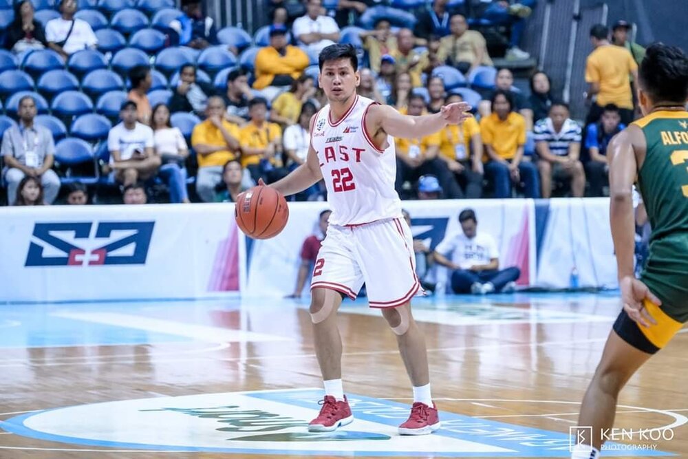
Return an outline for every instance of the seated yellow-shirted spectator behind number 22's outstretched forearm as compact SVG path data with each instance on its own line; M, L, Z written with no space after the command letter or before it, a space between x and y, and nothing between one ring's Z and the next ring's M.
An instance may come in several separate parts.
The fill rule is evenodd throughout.
M425 112L425 99L418 94L411 94L409 108L402 110L410 116L420 116ZM394 187L399 195L404 193L404 182L415 181L420 175L435 175L444 190L444 197L455 199L460 196L460 189L447 164L438 158L440 152L440 134L431 134L422 138L396 138L396 182Z

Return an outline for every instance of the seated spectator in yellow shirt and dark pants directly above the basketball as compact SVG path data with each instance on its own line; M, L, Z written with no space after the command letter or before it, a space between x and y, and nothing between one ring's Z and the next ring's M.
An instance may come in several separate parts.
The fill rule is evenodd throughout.
M282 129L266 119L268 102L264 98L257 97L248 103L248 115L250 122L239 132L241 165L255 182L259 178L275 182L287 175L281 167Z

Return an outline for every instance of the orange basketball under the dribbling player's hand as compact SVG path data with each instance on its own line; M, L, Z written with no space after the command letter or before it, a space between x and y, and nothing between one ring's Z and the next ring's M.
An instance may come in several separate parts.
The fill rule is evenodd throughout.
M284 229L289 219L287 201L269 186L254 186L237 197L237 226L253 239L270 239Z

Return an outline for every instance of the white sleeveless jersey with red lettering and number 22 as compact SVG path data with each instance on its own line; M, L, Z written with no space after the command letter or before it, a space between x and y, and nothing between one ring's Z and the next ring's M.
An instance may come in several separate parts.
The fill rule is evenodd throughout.
M382 151L365 131L365 114L372 104L373 100L357 95L338 122L330 117L330 105L316 115L311 143L327 185L330 224L356 225L402 216L394 189L394 138L387 136L388 147Z

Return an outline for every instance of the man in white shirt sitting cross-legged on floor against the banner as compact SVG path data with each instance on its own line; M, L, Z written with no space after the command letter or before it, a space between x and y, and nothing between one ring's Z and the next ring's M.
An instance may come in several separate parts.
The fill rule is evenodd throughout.
M480 295L513 292L521 270L515 266L499 270L497 243L491 235L477 234L473 209L462 211L459 222L463 232L445 237L433 254L435 261L453 270L453 292Z

